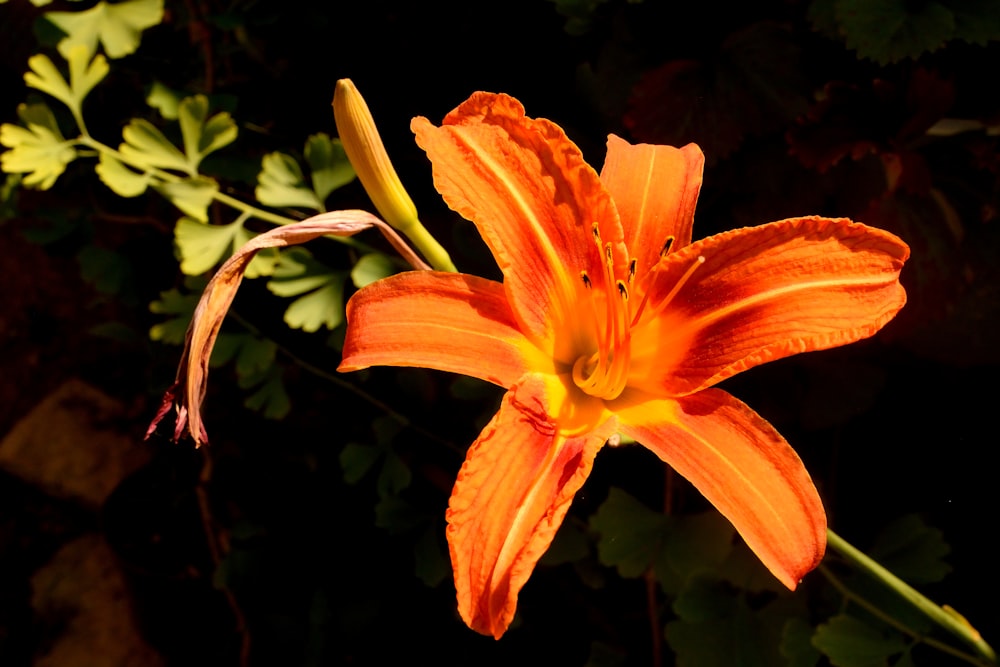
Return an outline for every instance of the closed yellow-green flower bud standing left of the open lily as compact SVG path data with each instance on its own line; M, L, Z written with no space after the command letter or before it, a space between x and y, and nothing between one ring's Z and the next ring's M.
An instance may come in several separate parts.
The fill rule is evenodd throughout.
M368 105L350 79L337 82L333 117L347 158L385 221L410 239L432 267L455 271L448 253L420 223L417 207L389 161Z

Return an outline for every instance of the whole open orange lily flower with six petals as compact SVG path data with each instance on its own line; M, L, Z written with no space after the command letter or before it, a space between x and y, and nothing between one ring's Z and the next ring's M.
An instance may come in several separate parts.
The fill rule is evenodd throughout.
M555 124L476 93L412 129L503 282L415 271L358 291L339 370L421 366L507 389L447 512L458 609L499 638L598 450L615 433L686 477L788 588L826 546L802 462L718 382L871 336L906 301L909 249L804 217L691 243L695 145L608 141L598 175Z

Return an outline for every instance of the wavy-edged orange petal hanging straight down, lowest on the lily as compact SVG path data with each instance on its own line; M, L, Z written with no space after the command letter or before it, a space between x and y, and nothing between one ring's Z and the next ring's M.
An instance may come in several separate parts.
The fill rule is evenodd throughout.
M470 628L497 639L617 422L562 435L547 416L545 381L529 375L469 448L448 505L458 611Z

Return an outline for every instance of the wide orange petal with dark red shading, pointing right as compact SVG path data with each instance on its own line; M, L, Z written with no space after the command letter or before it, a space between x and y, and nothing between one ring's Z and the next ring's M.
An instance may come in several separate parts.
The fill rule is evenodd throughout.
M906 303L899 271L908 256L888 232L817 217L693 243L660 265L632 330L629 385L685 395L766 361L867 338Z

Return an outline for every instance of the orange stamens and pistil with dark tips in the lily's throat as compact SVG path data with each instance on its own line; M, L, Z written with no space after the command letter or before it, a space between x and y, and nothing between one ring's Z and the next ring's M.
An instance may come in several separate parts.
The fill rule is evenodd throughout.
M634 313L629 305L629 290L635 282L636 260L631 260L628 266L626 280L615 277L615 265L611 244L601 241L597 224L593 226L594 241L603 258L603 271L595 276L599 281L596 285L586 271L580 272L580 279L587 292L585 308L589 309L589 319L594 323L594 339L596 349L582 354L573 363L573 382L584 393L605 400L614 400L625 390L628 381L629 362L631 359L632 329L641 327L662 313L680 291L684 283L691 277L695 269L705 262L699 256L681 278L674 283L670 291L649 304L660 273L660 263L655 264L646 275L646 289L642 301ZM660 252L661 261L670 252L673 237L667 239ZM649 309L647 309L649 305ZM645 312L645 317L642 317ZM642 317L642 322L640 318Z

